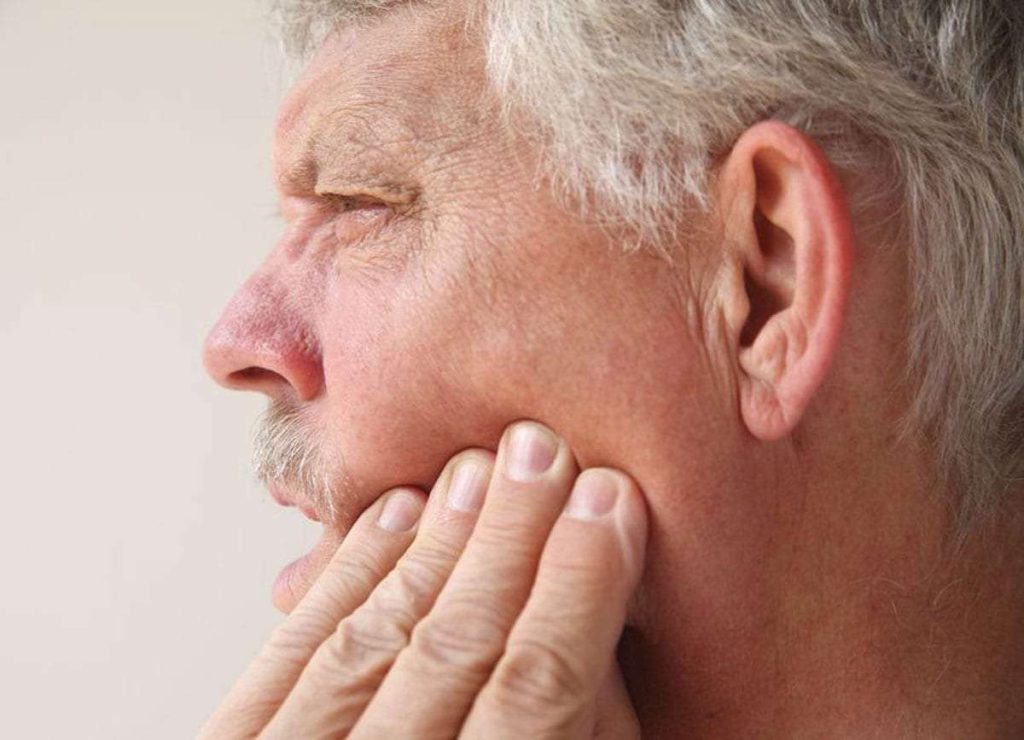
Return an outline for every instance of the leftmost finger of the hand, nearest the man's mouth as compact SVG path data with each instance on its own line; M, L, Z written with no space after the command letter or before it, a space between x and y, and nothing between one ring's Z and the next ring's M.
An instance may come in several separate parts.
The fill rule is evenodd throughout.
M338 621L366 601L413 541L424 493L396 489L356 520L331 563L250 663L200 737L254 737Z

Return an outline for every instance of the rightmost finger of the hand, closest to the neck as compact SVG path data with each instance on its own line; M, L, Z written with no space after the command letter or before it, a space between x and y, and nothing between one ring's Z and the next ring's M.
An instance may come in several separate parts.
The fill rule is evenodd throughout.
M593 736L591 710L616 667L615 645L645 542L645 509L632 480L585 471L544 550L505 654L464 726L466 737ZM618 725L631 712L622 696L600 708L605 723Z

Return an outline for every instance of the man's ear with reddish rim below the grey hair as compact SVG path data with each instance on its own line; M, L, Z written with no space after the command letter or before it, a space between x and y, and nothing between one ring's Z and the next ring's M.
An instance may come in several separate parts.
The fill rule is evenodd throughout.
M790 434L839 346L853 257L850 214L827 159L777 121L750 128L720 170L724 314L751 434Z

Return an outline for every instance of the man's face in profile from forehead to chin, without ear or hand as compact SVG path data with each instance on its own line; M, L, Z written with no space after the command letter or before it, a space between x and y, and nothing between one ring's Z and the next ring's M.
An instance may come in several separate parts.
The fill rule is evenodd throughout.
M333 38L284 105L287 227L207 346L218 381L299 420L339 511L279 582L282 609L381 492L429 490L450 455L493 448L512 421L655 486L649 442L693 449L701 405L727 400L703 380L692 297L561 209L497 105L464 27L408 11ZM328 519L298 481L274 485Z

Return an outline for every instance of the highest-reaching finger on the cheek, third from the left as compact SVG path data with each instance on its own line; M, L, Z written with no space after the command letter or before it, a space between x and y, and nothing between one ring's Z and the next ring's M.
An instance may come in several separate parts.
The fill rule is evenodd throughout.
M520 423L506 432L462 558L350 737L402 737L410 727L422 737L458 734L529 596L575 475L551 431Z

